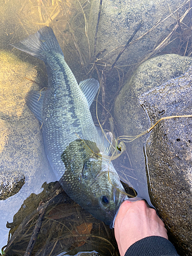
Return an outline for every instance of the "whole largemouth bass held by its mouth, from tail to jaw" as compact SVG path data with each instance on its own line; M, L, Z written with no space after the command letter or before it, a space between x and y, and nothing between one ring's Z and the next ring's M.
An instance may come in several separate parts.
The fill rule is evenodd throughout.
M45 151L56 178L75 202L110 224L125 196L119 191L124 189L113 164L103 157L109 155L110 143L90 113L98 81L77 83L50 27L13 46L43 60L47 68L47 90L31 91L26 103L42 125Z

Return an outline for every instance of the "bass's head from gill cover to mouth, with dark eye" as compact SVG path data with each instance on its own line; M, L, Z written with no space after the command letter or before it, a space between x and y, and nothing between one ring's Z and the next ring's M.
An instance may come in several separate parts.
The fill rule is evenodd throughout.
M110 225L120 204L126 199L113 164L101 159L87 159L84 161L81 182L89 195L81 206Z

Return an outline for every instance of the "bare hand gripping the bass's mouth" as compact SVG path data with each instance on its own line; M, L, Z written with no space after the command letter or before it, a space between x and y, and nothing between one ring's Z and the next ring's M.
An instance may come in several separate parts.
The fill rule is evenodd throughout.
M121 256L135 242L150 236L168 239L163 221L145 201L124 201L115 219L115 238Z

